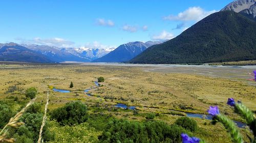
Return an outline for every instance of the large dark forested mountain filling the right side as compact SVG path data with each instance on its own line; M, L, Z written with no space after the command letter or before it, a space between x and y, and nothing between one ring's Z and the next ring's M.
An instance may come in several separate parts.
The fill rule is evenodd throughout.
M256 60L256 22L233 11L211 14L176 38L147 48L131 63Z

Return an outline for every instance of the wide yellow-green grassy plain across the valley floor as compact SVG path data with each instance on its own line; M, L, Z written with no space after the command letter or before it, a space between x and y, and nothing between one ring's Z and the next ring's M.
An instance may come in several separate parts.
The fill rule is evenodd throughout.
M256 88L249 83L253 81L195 73L151 72L148 70L150 68L93 65L8 65L8 68L0 66L0 98L4 100L17 96L19 100L25 100L22 94L24 89L35 87L39 92L37 101L45 103L48 85L52 85L57 89L71 90L71 93L50 91L50 110L67 102L80 100L86 103L90 112L95 115L101 113L142 121L145 120L146 113L155 112L160 113L155 120L170 124L184 116L183 111L206 113L210 105L218 105L221 112L228 117L241 120L233 113L232 108L226 105L229 97L241 100L246 106L256 110ZM95 88L93 81L99 76L104 77L105 81L99 88ZM71 81L74 88L69 89ZM20 90L6 93L12 85L16 85ZM92 96L83 92L89 88L95 88L90 91ZM116 103L137 106L138 114L132 110L116 109ZM210 125L210 121L203 119L195 120L200 127L198 137L205 138L207 142L230 142L221 125ZM241 130L243 133L249 132Z

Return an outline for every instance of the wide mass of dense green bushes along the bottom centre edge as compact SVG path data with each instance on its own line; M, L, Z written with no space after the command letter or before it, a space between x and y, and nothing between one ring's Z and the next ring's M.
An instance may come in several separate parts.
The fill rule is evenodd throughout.
M113 120L108 123L100 142L180 142L180 134L192 134L179 125L162 121L136 122Z

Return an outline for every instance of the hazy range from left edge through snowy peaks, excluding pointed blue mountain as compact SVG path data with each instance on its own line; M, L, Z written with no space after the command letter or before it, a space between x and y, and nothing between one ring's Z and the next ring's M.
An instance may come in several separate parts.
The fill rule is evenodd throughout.
M38 63L91 62L114 49L59 48L47 45L19 45L11 42L0 44L0 61Z

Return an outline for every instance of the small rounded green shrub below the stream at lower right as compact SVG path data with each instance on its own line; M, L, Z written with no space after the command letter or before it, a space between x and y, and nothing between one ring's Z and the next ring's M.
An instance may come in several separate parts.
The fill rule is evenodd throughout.
M176 120L175 124L191 132L197 129L197 122L194 119L190 119L188 117L179 118L178 120Z

